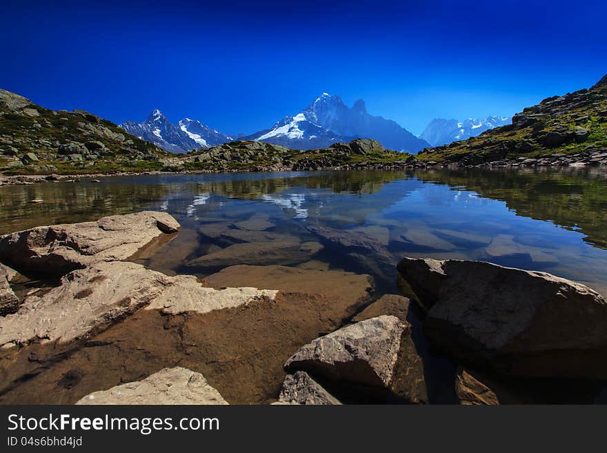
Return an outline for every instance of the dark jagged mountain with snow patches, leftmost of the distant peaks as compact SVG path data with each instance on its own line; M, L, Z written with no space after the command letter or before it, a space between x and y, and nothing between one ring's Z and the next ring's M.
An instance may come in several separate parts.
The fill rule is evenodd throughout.
M190 152L206 146L219 145L232 139L200 123L184 118L178 125L172 124L158 109L146 121L125 121L119 125L129 134L150 141L170 152Z

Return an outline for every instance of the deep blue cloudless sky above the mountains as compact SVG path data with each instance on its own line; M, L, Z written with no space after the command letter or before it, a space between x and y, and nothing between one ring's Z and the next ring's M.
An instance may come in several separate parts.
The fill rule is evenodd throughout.
M321 92L419 133L607 72L607 1L3 0L0 88L115 122L255 132Z

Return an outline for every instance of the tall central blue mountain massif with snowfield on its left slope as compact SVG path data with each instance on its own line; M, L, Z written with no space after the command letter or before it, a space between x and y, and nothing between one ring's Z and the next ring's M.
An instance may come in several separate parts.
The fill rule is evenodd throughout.
M304 110L281 119L272 128L243 137L301 150L358 138L375 139L386 148L398 151L418 152L428 146L395 121L368 114L361 99L349 108L341 97L328 93L321 94Z

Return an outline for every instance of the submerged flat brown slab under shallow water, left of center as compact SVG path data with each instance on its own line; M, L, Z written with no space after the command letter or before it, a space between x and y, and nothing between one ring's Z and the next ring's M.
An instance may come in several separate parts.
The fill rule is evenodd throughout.
M293 265L310 261L322 248L318 242L247 242L192 259L186 265L191 268L225 268L236 264Z

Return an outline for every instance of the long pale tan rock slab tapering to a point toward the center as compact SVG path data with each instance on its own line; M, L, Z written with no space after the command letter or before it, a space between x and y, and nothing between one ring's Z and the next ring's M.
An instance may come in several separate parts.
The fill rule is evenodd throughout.
M167 314L208 313L277 292L205 288L194 276L166 276L126 261L99 261L70 272L50 292L26 297L14 314L0 317L0 346L38 341L86 340L139 308Z

